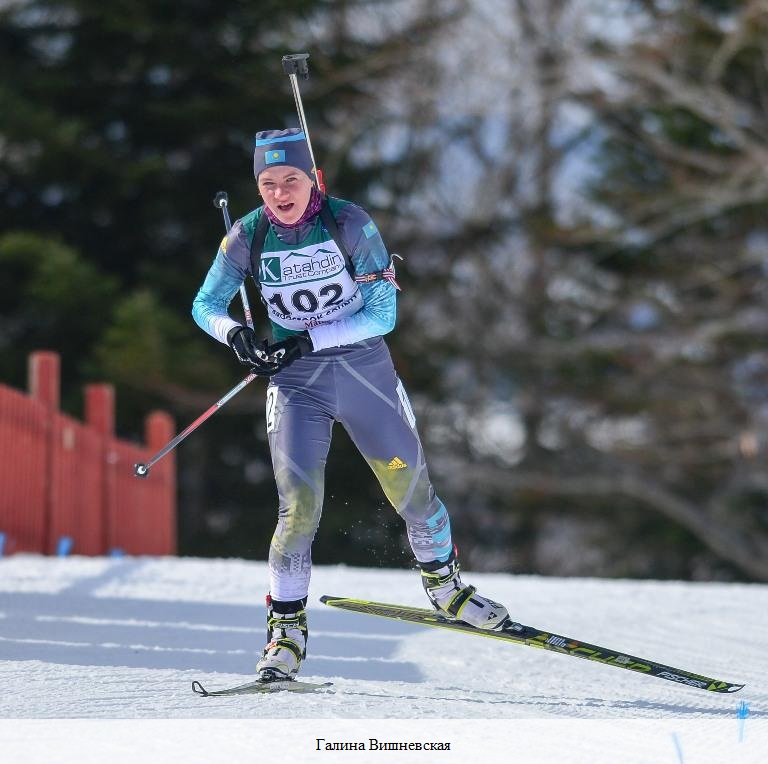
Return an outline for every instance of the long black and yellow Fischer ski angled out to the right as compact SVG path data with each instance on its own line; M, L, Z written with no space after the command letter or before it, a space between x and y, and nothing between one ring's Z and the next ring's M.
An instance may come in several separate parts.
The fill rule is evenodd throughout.
M525 626L521 623L509 622L504 629L499 631L485 631L477 629L461 621L450 621L442 617L435 610L426 608L409 607L407 605L388 605L383 602L370 602L368 600L358 600L350 597L331 597L323 595L320 602L335 607L340 610L347 610L353 613L362 613L365 615L376 615L381 618L390 618L395 621L406 621L421 626L434 626L438 629L448 629L449 631L458 631L463 634L474 634L479 637L488 637L490 639L500 639L505 642L514 642L520 645L530 647L539 647L544 650L552 650L564 655L571 655L574 658L584 658L590 661L604 663L607 666L616 666L617 668L637 671L648 676L655 676L659 679L667 679L670 682L678 682L688 687L695 687L709 692L738 692L743 684L734 684L724 682L720 679L693 674L690 671L665 666L662 663L656 663L646 658L638 658L635 655L609 650L605 647L590 645L571 637L564 637L560 634L553 634L550 631L542 631L533 626Z

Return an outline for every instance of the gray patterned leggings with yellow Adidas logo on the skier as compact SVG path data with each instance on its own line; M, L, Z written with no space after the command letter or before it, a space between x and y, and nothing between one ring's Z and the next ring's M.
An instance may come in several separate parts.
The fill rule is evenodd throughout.
M448 558L448 512L429 480L411 405L381 337L295 361L271 378L266 413L280 499L269 548L274 599L308 593L334 421L349 433L405 521L416 559Z

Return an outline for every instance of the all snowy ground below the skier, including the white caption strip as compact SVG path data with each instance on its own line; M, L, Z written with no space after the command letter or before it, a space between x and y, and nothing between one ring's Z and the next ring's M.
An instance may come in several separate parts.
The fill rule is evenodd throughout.
M332 688L201 698L195 679L250 677L264 563L16 555L0 559L0 762L768 761L768 586L464 578L524 623L746 687L331 610L321 594L425 599L412 571L317 566L302 677Z

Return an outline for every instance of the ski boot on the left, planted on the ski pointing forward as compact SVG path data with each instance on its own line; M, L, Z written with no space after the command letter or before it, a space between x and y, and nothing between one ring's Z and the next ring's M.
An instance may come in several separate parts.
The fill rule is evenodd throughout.
M256 664L264 682L295 678L307 655L306 597L281 602L267 595L267 645Z

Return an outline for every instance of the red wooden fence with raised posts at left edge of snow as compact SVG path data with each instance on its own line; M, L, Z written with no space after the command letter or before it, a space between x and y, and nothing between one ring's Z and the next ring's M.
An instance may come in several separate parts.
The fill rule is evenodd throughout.
M6 552L176 552L173 453L147 478L133 474L174 436L171 417L152 412L145 446L114 435L110 385L85 388L85 422L59 411L59 357L29 359L29 395L0 384L0 534ZM1 553L1 552L0 552Z

